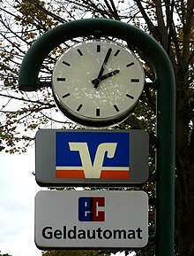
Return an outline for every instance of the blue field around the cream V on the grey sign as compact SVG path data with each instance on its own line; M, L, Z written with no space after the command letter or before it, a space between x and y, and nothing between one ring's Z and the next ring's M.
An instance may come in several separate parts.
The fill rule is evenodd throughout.
M69 143L86 143L93 164L98 146L104 143L116 143L113 158L105 153L103 167L130 166L130 134L106 132L56 132L56 167L81 167L78 151L71 151Z

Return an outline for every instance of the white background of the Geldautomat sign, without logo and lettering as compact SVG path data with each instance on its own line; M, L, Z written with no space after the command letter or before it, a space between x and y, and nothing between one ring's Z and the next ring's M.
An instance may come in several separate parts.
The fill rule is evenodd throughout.
M104 197L105 221L78 221L78 198ZM42 230L49 227L54 233L63 226L82 230L124 229L142 230L141 238L133 239L70 239L68 237L43 237ZM58 233L60 231L56 231ZM39 191L35 197L35 244L39 249L94 249L141 248L148 242L148 196L145 191Z

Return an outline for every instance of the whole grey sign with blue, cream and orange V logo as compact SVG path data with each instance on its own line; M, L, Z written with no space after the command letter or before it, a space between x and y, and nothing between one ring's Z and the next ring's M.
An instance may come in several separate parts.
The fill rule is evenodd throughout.
M143 183L148 158L144 130L41 129L35 136L35 178L40 186Z

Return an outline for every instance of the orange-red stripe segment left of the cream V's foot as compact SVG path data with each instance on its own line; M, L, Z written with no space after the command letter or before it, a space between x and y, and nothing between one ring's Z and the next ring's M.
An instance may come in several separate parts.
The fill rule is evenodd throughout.
M56 179L85 179L83 170L56 170Z

